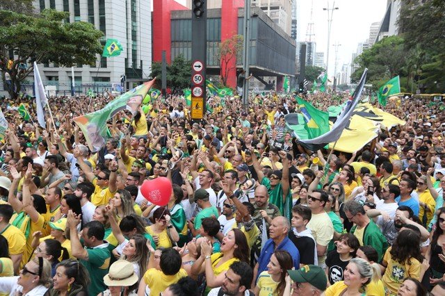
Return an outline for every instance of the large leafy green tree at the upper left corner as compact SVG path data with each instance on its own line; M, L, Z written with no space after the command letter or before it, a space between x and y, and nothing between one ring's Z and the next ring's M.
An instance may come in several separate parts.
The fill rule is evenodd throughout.
M68 13L56 10L43 10L40 15L0 10L0 71L10 97L17 98L34 61L64 67L95 65L96 54L102 53L103 33L87 22L65 23L65 17Z

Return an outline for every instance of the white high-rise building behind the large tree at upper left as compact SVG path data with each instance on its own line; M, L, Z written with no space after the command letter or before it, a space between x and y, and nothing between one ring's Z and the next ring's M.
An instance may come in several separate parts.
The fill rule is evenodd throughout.
M104 33L102 45L108 38L116 39L123 47L120 56L104 58L97 55L95 67L76 65L76 92L86 92L92 86L102 92L120 89L120 77L125 74L127 88L147 81L152 67L151 0L34 0L37 11L53 8L70 13L69 22L90 22ZM44 85L56 85L58 93L70 90L71 67L40 65Z

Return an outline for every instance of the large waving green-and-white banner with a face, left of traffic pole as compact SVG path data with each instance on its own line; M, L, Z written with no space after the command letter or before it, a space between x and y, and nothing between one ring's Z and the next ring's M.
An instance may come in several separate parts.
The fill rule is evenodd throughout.
M101 110L73 119L85 135L91 151L99 151L105 145L106 138L108 138L106 122L120 110L129 110L134 115L153 83L154 79L138 85L110 101Z

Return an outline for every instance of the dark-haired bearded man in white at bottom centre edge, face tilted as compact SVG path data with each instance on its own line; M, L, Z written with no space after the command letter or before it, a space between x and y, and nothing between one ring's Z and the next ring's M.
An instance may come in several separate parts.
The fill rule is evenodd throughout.
M248 263L236 261L230 265L225 273L223 285L219 288L210 290L208 296L227 295L227 296L250 296L254 295L249 290L252 283L253 272Z

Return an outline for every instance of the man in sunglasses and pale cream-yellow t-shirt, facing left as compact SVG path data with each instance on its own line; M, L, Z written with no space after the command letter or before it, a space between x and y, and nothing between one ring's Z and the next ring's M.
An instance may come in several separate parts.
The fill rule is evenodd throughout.
M311 209L312 217L307 228L312 230L316 242L318 266L325 267L327 245L334 237L334 226L325 211L328 195L323 190L309 190L307 206Z

